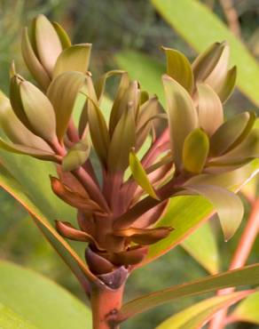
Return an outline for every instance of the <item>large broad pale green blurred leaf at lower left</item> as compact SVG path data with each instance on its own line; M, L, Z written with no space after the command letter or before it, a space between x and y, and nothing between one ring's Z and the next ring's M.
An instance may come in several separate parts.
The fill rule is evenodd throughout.
M9 327L1 323L0 317L2 328L90 328L90 310L64 288L34 271L1 261L0 281L0 302L28 322L27 326Z

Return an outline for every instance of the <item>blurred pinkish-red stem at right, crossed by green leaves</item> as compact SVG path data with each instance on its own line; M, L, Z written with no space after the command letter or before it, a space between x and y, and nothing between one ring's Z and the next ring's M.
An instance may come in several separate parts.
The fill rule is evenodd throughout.
M239 240L239 245L233 255L232 262L229 269L239 269L243 267L247 261L249 253L255 243L259 231L259 198L255 200L249 215L247 226L244 229ZM232 293L235 288L222 289L217 292L218 295ZM209 329L224 328L224 320L227 315L227 309L222 309L216 313L212 319Z

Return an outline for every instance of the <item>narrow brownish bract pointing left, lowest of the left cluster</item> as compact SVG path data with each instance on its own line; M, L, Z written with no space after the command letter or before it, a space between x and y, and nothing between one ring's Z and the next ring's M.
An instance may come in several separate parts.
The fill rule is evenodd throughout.
M33 148L26 145L9 143L8 141L2 140L1 138L0 148L3 148L4 150L12 153L34 156L38 159L57 162L58 164L61 162L61 157L57 156L51 151L43 150L41 148Z

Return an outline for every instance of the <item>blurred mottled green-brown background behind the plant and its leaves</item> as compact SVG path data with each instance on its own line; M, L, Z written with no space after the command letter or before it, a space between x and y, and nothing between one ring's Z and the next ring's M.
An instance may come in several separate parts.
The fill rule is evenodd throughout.
M202 3L229 26L232 33L247 45L258 60L259 0L203 0ZM12 60L15 60L18 71L23 76L28 76L20 54L20 35L22 27L37 13L44 13L49 19L57 20L67 29L75 44L93 44L90 66L94 75L118 68L120 54L129 50L143 52L149 58L161 62L164 60L161 45L177 48L190 60L196 55L147 0L0 0L0 88L4 92L8 93ZM201 24L199 19L197 24ZM216 40L212 40L214 41ZM226 115L231 116L234 111L255 108L255 105L236 91L226 108ZM217 231L215 221L213 225ZM220 254L224 255L222 269L227 269L238 239L239 234L225 244L221 233L217 234L218 248ZM249 261L256 261L258 252L259 241L255 243ZM27 213L3 190L0 190L0 258L35 269L66 286L84 300L80 286L69 269L45 242ZM136 271L130 277L126 298L130 299L206 274L206 271L178 246L160 260ZM151 329L192 302L193 299L188 299L155 309L136 317L122 328Z

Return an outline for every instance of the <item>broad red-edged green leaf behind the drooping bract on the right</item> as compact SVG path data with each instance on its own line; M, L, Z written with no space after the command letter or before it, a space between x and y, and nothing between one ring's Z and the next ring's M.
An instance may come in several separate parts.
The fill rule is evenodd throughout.
M258 172L259 161L255 160L232 173L218 174L216 181L219 181L225 189L231 189L236 192ZM205 179L204 176L202 177ZM208 181L203 183L213 184L213 180L210 181L211 175L206 175L206 177ZM192 185L194 184L195 181L192 182ZM174 228L174 231L166 239L149 247L149 253L142 264L153 261L155 258L169 252L170 249L183 242L186 237L190 236L194 229L197 229L197 226L202 221L208 220L213 213L212 205L203 197L172 197L169 201L167 211L161 216L161 220L157 222L156 227L170 226Z

